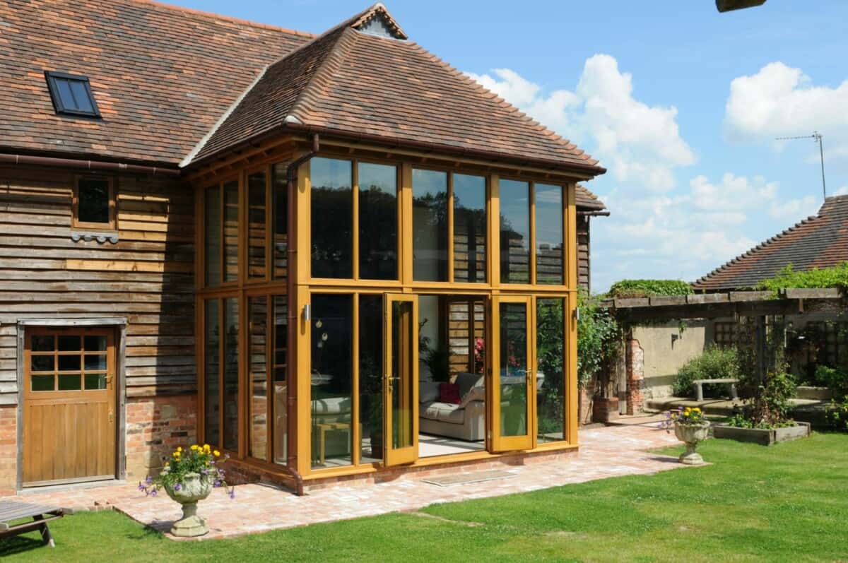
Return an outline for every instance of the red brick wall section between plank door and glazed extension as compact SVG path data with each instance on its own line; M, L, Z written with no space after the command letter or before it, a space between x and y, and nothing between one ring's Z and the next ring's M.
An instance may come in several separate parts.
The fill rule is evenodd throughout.
M197 396L142 397L126 401L126 478L158 473L177 446L197 440Z

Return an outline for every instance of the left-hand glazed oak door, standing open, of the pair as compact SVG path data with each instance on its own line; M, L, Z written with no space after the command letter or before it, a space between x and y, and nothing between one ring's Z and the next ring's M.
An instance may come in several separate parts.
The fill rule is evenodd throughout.
M418 459L418 298L387 294L383 307L386 465Z

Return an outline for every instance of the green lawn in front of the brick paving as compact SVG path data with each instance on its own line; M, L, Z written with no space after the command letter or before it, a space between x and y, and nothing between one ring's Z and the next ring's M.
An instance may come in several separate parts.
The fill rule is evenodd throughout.
M80 514L51 526L56 549L30 534L8 541L6 554L86 563L848 561L848 436L770 448L710 440L699 450L714 465L226 540L177 543L118 513Z

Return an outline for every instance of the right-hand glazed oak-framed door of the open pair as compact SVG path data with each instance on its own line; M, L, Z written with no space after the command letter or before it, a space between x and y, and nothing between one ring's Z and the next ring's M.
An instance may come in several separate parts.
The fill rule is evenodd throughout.
M491 449L532 449L535 432L536 377L533 358L533 299L492 299Z

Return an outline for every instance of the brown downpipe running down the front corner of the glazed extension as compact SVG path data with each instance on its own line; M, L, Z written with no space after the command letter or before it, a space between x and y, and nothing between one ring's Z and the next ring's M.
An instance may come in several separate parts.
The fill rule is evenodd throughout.
M298 212L296 209L295 203L296 199L296 189L297 187L294 184L294 177L297 174L297 170L300 167L300 164L304 164L308 160L312 159L315 154L318 153L319 149L319 141L318 134L315 133L312 136L312 150L309 153L304 154L303 156L295 159L291 164L287 166L286 169L286 190L287 190L287 203L288 203L288 242L287 242L287 266L288 266L288 278L286 283L286 291L287 291L287 305L288 305L288 334L286 345L288 348L288 367L286 374L286 386L288 387L288 403L287 403L287 411L286 417L288 419L288 452L287 452L287 460L286 460L286 469L294 478L295 485L295 494L298 497L304 496L304 477L300 475L298 470L295 468L295 461L297 460L297 449L298 449L298 393L297 393L297 366L298 366L298 327L300 323L300 312L297 310L297 303L293 303L293 298L297 295L298 290L298 248L297 248L297 240L295 240L295 244L292 244L292 234L294 233L295 238L297 237L297 220L298 220Z

